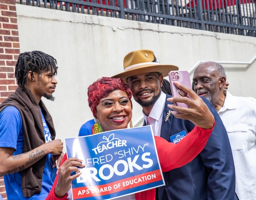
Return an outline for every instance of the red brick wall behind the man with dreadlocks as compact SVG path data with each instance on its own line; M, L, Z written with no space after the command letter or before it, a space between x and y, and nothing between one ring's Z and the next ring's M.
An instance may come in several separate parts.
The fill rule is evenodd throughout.
M15 63L20 54L15 0L0 0L0 103L17 88ZM0 194L6 198L3 177Z

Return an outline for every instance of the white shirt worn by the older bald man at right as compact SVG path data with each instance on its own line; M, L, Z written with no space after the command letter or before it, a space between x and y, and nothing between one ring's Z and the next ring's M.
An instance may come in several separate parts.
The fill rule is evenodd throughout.
M230 140L236 194L240 200L256 200L256 99L235 97L227 91L218 114Z

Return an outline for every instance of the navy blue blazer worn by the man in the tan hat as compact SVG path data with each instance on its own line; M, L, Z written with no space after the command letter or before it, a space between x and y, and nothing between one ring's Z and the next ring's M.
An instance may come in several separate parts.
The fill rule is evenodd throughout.
M167 98L172 97L168 94ZM202 98L215 117L215 128L201 153L183 167L164 172L166 186L157 189L159 200L236 200L235 167L227 131L212 104ZM171 104L166 101L163 110L161 137L169 137L185 130L189 133L194 124L169 115Z

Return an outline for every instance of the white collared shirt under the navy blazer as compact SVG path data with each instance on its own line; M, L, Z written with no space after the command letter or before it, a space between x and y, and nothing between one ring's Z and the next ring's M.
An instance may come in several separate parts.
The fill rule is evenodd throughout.
M166 94L161 91L160 97L158 100L154 103L153 108L151 109L149 113L149 117L154 119L154 135L159 136L161 134L161 126L163 121L163 109L166 102ZM143 116L145 119L145 122L147 123L147 117L145 113L143 112Z

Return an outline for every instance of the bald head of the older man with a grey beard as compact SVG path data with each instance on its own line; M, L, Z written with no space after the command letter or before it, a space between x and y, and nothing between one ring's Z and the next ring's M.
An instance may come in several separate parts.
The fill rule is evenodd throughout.
M204 62L195 69L192 83L194 91L211 101L215 107L223 99L225 83L226 73L219 63Z

